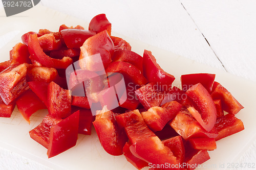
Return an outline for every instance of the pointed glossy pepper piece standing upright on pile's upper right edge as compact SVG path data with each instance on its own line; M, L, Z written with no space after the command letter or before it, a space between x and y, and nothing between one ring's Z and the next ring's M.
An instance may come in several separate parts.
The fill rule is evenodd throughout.
M163 85L172 85L175 77L165 72L152 55L151 51L144 50L143 74L149 82L158 82Z

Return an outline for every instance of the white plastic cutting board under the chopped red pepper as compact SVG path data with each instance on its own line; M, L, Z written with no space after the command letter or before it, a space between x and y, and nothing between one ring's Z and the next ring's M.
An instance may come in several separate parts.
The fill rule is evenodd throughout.
M4 16L4 10L0 11ZM20 36L28 31L49 29L58 31L60 25L81 25L88 28L89 21L82 21L65 14L53 11L43 6L36 6L26 12L13 17L0 17L0 37L8 42L0 42L0 62L9 59L9 51ZM115 23L112 23L114 27ZM209 166L202 169L220 169L220 164L237 163L238 158L246 151L256 139L254 105L256 101L256 83L230 75L222 70L199 64L192 60L177 56L159 48L135 41L131 38L120 36L128 41L132 50L142 55L144 49L152 51L157 62L162 68L176 77L175 85L180 86L180 76L197 72L216 74L216 81L226 87L235 98L245 107L237 117L244 122L245 130L217 142L217 150L209 152L211 159L204 164ZM11 40L8 41L11 37ZM99 139L92 131L91 136L79 135L74 148L53 158L47 158L47 150L32 140L29 131L35 128L47 114L41 110L31 116L31 124L23 119L15 108L11 118L0 117L0 147L21 154L53 169L136 169L124 156L111 156L101 147ZM1 160L0 160L1 161ZM221 168L225 169L225 168ZM228 169L228 168L226 168Z

